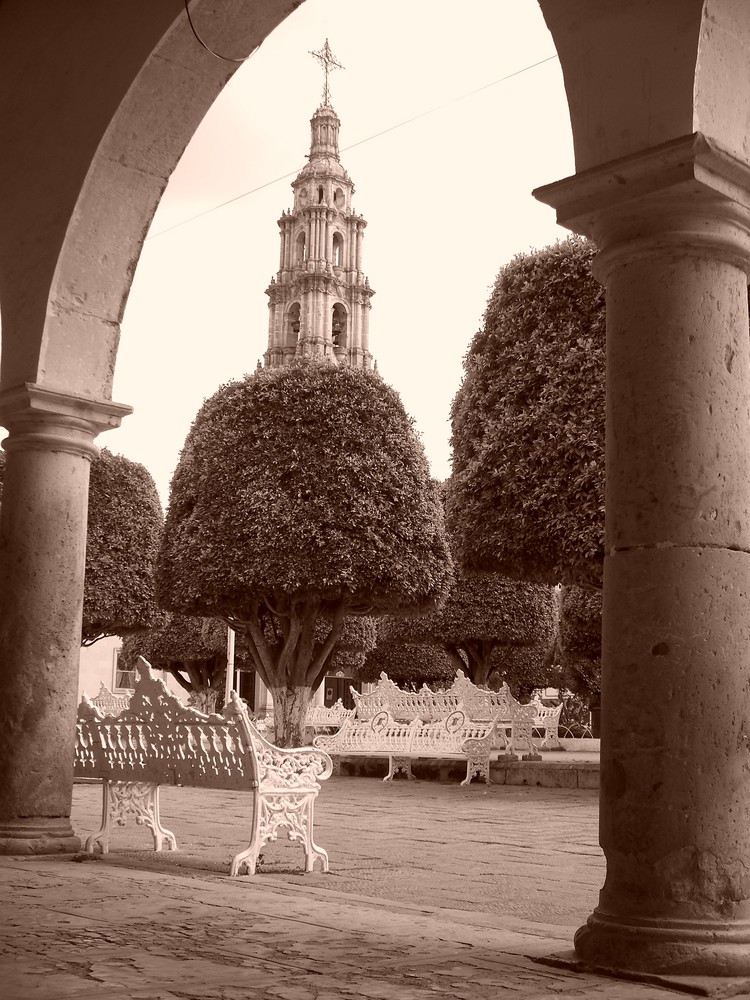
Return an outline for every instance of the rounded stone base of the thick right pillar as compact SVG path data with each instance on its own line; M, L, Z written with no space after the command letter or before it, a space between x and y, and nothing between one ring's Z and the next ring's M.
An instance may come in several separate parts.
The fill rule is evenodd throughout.
M750 976L750 921L616 918L595 910L576 931L589 965L621 972Z

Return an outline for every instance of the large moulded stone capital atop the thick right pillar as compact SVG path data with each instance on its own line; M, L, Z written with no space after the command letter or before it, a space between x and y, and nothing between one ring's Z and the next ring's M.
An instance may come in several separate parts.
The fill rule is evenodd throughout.
M560 225L589 236L613 266L670 250L750 271L750 164L700 132L536 188Z

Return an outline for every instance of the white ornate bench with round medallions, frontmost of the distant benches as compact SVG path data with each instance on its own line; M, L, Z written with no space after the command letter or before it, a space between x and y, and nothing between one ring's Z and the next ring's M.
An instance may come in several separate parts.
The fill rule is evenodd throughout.
M431 722L399 721L388 712L379 712L372 719L348 719L334 735L316 736L313 746L337 759L387 757L384 781L391 781L399 771L413 778L413 760L465 760L466 777L461 784L468 785L474 777L484 777L490 783L490 761L512 754L512 740L512 725L497 720L472 721L459 708Z

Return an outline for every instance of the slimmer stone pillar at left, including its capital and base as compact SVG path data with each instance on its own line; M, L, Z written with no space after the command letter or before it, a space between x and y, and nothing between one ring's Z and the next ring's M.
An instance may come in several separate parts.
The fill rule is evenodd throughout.
M70 825L89 467L129 407L0 396L0 853L75 851Z

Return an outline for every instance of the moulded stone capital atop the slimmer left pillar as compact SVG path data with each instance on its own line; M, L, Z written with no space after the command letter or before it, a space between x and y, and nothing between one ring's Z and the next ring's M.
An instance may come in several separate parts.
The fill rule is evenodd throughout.
M108 399L71 396L26 382L0 393L0 424L10 436L5 451L41 449L95 458L94 438L120 426L132 406Z

